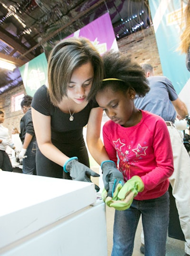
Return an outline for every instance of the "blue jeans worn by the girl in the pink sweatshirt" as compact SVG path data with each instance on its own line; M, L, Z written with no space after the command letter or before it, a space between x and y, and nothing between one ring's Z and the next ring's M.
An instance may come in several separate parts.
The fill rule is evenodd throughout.
M142 215L144 230L144 254L164 256L169 225L169 193L163 196L137 201L124 211L115 210L114 246L112 256L132 256L134 237Z

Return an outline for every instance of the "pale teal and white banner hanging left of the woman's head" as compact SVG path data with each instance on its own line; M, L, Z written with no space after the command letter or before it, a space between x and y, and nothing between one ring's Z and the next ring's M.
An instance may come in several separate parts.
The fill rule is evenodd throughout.
M19 70L28 95L33 97L40 86L47 84L47 59L45 53L41 53L38 57L30 60Z

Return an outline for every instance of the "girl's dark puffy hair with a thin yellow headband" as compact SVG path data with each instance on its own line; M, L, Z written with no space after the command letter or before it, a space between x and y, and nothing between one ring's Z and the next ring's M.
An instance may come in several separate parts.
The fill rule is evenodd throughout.
M106 86L112 86L114 91L126 92L132 87L139 97L144 97L150 90L149 82L140 65L132 62L125 54L119 51L108 51L103 55L104 79L115 78L122 81L102 82L100 90Z

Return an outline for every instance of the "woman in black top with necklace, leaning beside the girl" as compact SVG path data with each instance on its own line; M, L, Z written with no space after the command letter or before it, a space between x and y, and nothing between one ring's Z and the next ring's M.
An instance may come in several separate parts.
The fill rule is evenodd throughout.
M91 182L99 175L89 167L83 138L90 154L103 169L104 186L112 194L123 181L100 139L102 109L94 99L103 78L103 62L85 38L68 38L57 43L48 56L48 86L40 87L32 100L36 133L37 174ZM95 186L96 191L99 190Z

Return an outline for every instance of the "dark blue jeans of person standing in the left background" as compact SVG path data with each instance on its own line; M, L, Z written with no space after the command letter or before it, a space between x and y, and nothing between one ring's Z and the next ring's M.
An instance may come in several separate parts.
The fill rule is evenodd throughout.
M36 141L30 142L25 156L22 160L22 172L36 175Z

